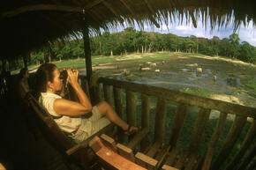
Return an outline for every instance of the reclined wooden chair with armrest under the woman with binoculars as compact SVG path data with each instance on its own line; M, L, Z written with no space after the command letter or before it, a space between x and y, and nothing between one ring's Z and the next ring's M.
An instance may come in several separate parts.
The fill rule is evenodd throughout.
M67 137L66 134L59 129L56 122L53 120L51 115L49 115L49 112L34 99L33 95L28 93L27 100L29 101L32 111L37 115L36 117L39 128L43 135L49 139L50 143L53 144L68 161L75 162L85 169L90 169L90 165L94 159L94 154L92 150L89 149L88 142L94 136L107 133L109 130L112 130L114 124L109 124L107 127L94 134L94 136L89 137L86 141L80 144L75 144L71 138Z

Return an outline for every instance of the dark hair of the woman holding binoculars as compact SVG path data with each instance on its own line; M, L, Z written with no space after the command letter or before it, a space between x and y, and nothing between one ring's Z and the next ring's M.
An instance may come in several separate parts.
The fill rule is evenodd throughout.
M53 81L53 71L56 69L56 65L53 63L43 63L36 71L36 91L46 92L47 82Z

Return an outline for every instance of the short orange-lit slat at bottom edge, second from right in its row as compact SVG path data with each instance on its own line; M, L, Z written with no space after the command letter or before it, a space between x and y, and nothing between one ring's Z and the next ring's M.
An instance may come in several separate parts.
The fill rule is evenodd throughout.
M158 161L155 159L152 159L151 157L148 157L147 155L137 152L135 155L136 163L139 164L139 166L146 167L149 170L156 169Z

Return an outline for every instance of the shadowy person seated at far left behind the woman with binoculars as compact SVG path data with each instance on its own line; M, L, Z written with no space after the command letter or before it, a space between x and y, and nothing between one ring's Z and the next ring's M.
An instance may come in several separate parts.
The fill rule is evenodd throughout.
M19 98L21 100L23 100L26 96L26 92L29 92L29 85L28 85L28 81L27 78L29 78L29 73L27 68L22 68L21 70L19 70Z

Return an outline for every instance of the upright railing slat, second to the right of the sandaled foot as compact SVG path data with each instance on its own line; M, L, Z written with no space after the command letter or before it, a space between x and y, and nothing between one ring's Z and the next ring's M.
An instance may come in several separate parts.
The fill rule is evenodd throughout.
M157 100L154 122L154 141L162 143L164 134L164 125L167 111L167 101L159 98Z

